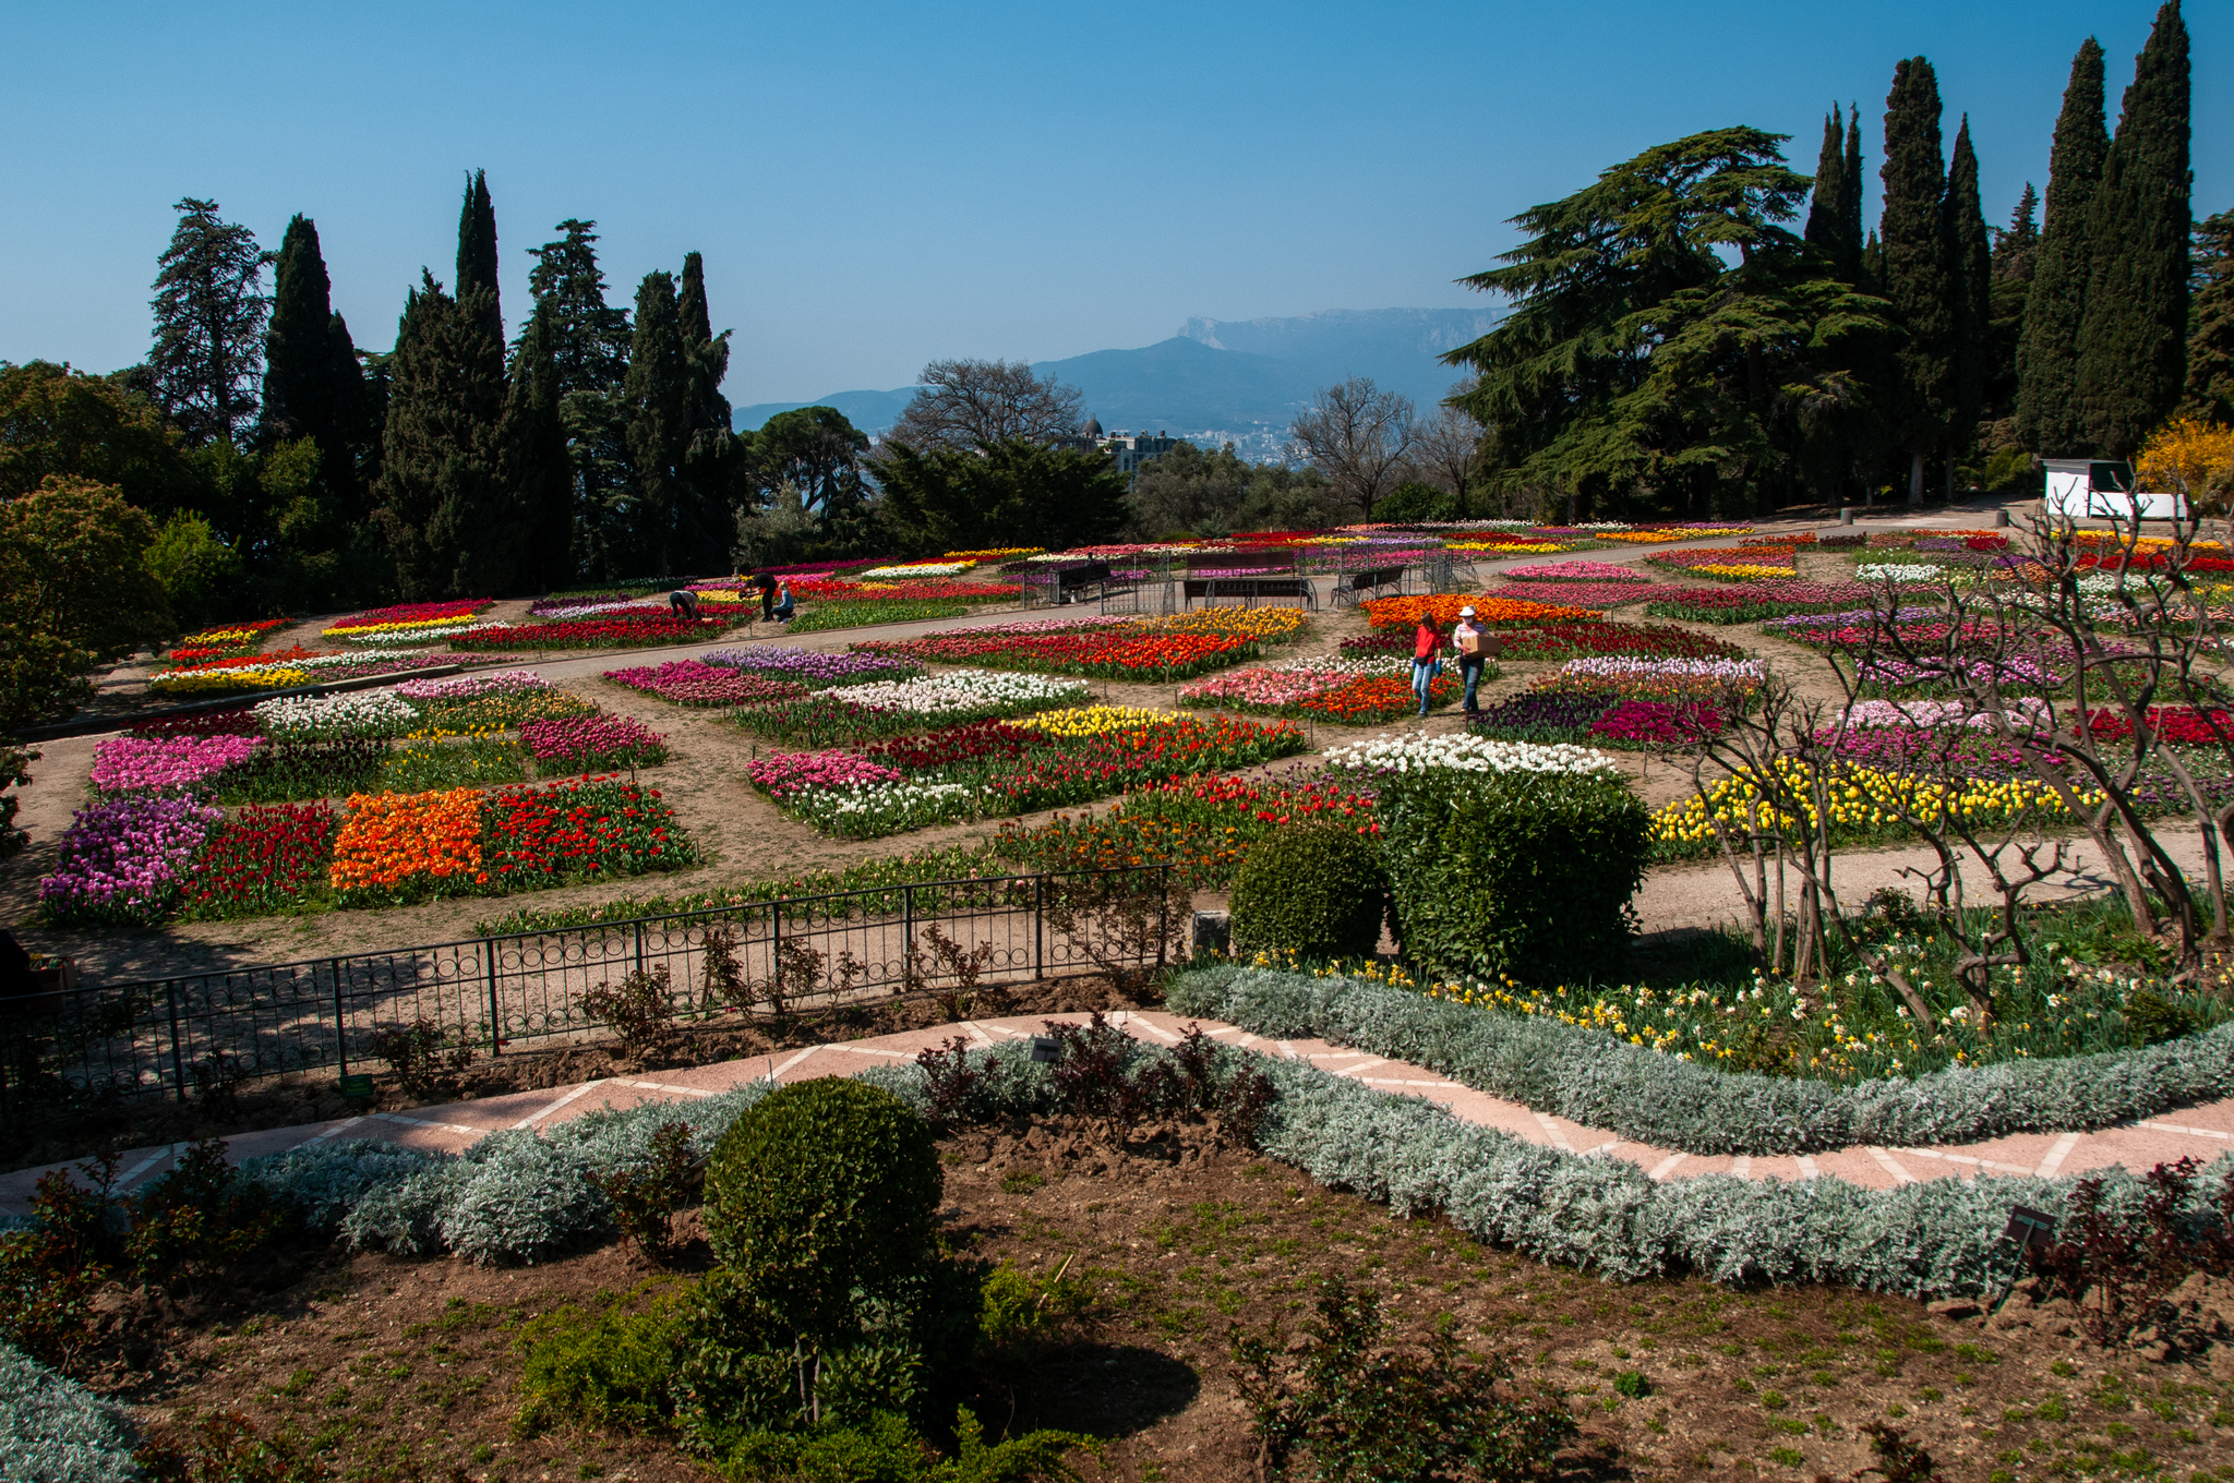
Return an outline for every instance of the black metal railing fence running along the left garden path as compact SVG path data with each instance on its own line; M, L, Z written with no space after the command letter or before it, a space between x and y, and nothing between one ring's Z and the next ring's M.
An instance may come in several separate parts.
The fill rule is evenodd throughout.
M632 974L681 1025L896 996L947 996L961 1016L1003 983L1162 967L1186 905L1168 864L932 880L0 998L0 1121L31 1099L366 1072L420 1023L489 1056L590 1041L608 1023L583 996Z

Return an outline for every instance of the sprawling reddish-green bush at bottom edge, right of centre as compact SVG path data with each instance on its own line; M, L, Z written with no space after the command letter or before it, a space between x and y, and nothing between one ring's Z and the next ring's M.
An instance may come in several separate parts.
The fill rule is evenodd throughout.
M1282 1374L1278 1331L1233 1333L1269 1479L1287 1479L1302 1452L1309 1476L1329 1483L1503 1483L1535 1476L1579 1432L1555 1394L1526 1394L1501 1356L1466 1356L1452 1324L1416 1351L1383 1347L1381 1298L1343 1278L1320 1282L1316 1309L1293 1374Z

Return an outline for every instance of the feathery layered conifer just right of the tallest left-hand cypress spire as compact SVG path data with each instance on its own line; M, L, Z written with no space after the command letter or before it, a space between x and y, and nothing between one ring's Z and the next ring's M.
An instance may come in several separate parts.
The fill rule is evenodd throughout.
M596 576L632 576L632 500L628 496L628 310L605 302L596 266L594 221L565 219L563 237L529 248L536 266L527 290L552 308L552 362L558 369L558 418L574 465L579 556ZM525 328L521 331L525 337Z

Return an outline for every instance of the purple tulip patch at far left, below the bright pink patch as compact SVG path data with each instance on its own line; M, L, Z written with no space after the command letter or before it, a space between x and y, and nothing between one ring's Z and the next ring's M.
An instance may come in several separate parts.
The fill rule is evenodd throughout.
M179 902L188 869L219 822L201 800L132 793L78 809L56 869L38 882L58 927L152 927Z

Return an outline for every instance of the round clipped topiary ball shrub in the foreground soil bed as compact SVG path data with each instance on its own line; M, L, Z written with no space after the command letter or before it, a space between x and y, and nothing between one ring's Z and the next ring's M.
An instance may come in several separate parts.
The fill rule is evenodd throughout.
M945 1179L932 1128L898 1097L824 1077L771 1092L706 1166L706 1237L793 1333L842 1333L853 1289L918 1271Z

